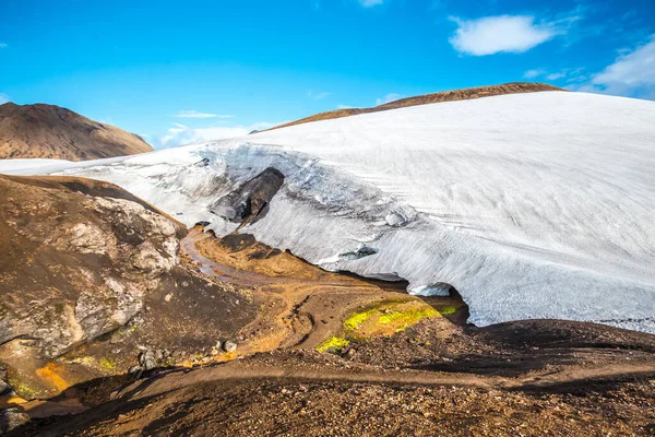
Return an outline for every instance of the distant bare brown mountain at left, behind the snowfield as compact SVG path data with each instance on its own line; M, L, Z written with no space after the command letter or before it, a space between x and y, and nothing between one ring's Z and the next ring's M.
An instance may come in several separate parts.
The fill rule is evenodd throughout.
M53 105L0 105L0 160L97 160L153 149L139 135Z

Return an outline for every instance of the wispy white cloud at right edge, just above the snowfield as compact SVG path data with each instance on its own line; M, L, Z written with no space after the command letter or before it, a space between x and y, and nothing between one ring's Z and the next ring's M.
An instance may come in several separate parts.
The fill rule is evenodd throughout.
M577 91L655 99L655 35L648 43L620 55L612 64L592 75Z

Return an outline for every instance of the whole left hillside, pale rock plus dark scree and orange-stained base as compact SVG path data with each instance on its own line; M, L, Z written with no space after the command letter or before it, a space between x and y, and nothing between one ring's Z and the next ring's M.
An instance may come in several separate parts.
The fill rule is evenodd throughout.
M183 225L111 184L0 175L0 368L25 399L183 363L257 316L180 257Z

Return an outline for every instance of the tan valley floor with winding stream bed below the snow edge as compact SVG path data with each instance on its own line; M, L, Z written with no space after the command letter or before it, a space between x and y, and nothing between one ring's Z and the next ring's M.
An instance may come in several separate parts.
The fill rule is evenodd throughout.
M358 306L390 298L417 300L404 284L325 272L288 252L259 244L249 235L216 239L200 228L189 232L182 249L204 262L205 274L235 286L253 287L260 312L245 327L240 354L277 347L315 347L342 329ZM209 270L207 270L209 269Z

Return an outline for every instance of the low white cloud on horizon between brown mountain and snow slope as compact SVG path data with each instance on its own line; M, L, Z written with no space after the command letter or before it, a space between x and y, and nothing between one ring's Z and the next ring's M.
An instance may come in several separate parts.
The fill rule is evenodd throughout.
M154 146L156 149L168 149L184 144L246 137L253 130L269 129L278 125L282 123L258 122L251 126L206 127L194 129L184 125L174 123L174 127L168 129L168 132L165 135L155 139Z

